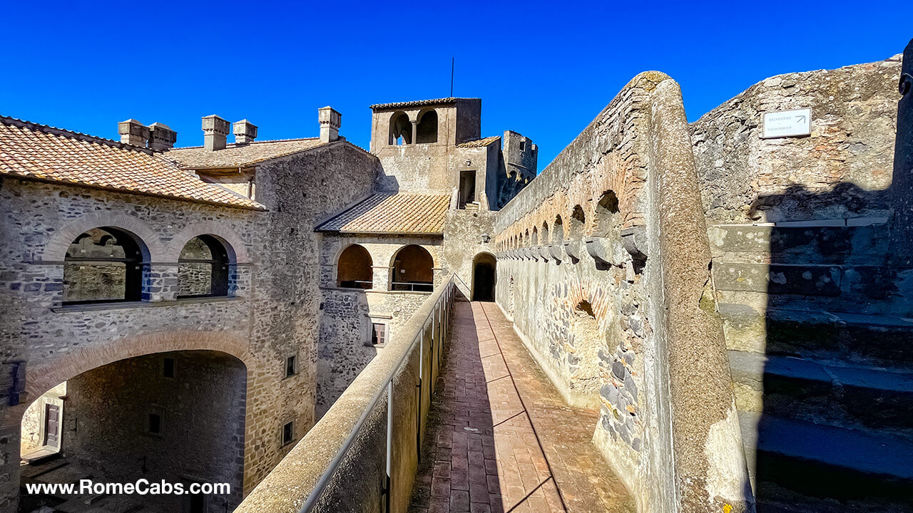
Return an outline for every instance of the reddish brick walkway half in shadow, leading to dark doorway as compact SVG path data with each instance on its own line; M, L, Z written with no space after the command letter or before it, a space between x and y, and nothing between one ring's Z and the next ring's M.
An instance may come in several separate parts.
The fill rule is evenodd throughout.
M500 309L457 302L454 323L410 511L635 511L597 412L562 401Z

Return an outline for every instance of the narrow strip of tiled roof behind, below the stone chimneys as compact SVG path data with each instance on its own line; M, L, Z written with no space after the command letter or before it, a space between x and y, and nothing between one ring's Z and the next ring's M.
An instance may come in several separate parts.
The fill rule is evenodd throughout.
M248 144L228 144L211 152L203 146L174 148L163 152L167 159L178 162L184 169L226 169L246 167L258 162L284 157L320 146L320 138L288 139L283 141L254 141Z

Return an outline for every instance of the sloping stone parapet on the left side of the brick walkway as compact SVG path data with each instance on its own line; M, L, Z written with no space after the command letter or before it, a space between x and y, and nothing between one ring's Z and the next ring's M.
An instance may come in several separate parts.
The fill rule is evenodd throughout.
M347 449L338 470L328 476L312 511L405 511L409 507L425 416L437 381L440 351L450 331L455 288L451 277L364 368L310 432L236 508L236 513L298 513ZM415 340L419 343L413 344ZM402 366L399 366L400 362ZM420 363L421 361L421 363ZM387 395L393 377L393 455L390 508L384 508ZM416 385L421 384L421 387ZM377 394L380 399L373 405ZM420 400L416 402L416 394ZM346 446L363 417L357 436ZM355 478L353 478L355 477Z

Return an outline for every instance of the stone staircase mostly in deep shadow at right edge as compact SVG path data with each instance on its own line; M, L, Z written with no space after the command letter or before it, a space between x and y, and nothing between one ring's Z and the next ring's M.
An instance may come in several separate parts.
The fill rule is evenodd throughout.
M761 513L913 511L913 271L887 266L887 231L709 229Z

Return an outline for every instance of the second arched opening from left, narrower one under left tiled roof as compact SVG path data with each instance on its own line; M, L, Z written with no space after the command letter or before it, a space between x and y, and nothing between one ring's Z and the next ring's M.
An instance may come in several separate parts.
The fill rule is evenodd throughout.
M178 298L228 295L228 250L215 236L187 241L177 263Z

